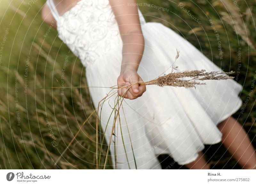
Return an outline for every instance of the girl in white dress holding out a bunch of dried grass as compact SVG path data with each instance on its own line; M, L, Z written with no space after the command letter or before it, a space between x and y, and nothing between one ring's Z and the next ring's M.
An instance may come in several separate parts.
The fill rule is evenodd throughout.
M86 67L94 107L113 85L129 85L161 75L180 51L178 71L221 69L180 35L145 22L136 0L47 0L44 22ZM175 64L175 66L176 66ZM159 154L169 154L189 169L209 169L204 144L222 142L244 169L256 165L254 148L231 116L242 105L242 85L233 79L207 81L196 89L132 85L119 88L124 111L114 133L108 118L115 98L101 109L101 127L116 169L161 169ZM127 90L127 92L126 92ZM126 92L126 93L125 93ZM143 95L142 95L143 94ZM138 98L139 97L139 98ZM113 115L111 115L113 119ZM122 135L122 136L121 136Z

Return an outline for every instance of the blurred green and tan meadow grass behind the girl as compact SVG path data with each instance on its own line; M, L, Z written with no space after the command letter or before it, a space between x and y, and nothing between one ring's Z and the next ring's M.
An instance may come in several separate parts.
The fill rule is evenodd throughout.
M83 126L60 162L54 165L60 153L93 112L93 106L88 89L76 88L87 86L83 65L60 41L57 32L49 29L51 27L41 20L44 2L30 2L29 6L28 0L1 1L0 168L95 169L95 114ZM251 85L256 69L256 2L138 2L147 4L140 6L147 21L161 22L170 27L224 71L238 70L238 48L241 48L242 62L236 80L243 85L241 99L244 102L248 97L250 99L244 112L240 113L240 109L234 117L243 124L255 147L256 95L255 87L251 88ZM180 3L185 6L181 8ZM157 10L152 4L166 10ZM202 24L198 24L184 10L190 11ZM220 36L222 60L216 33L209 19L212 19ZM62 69L65 69L64 74ZM73 88L65 88L64 92L60 88L46 88L61 85ZM221 144L206 145L204 152L212 168L240 168ZM163 168L173 164L173 159L166 155L159 156L159 160ZM110 160L108 162L111 164ZM111 166L107 168L111 169ZM184 167L175 163L171 165L171 169L177 168Z

